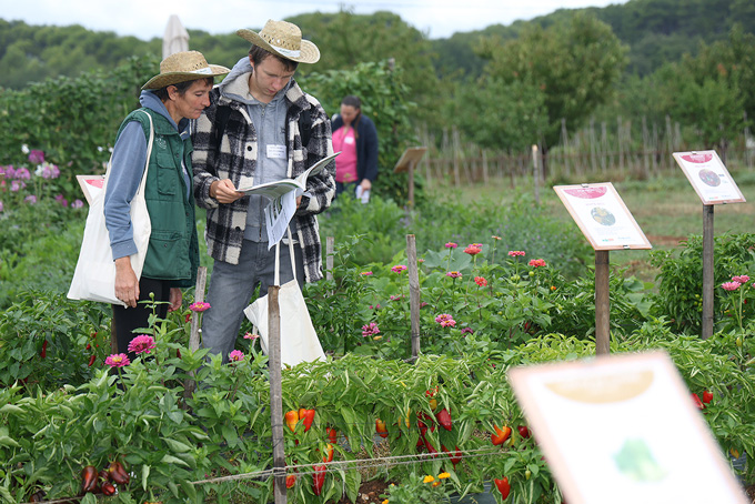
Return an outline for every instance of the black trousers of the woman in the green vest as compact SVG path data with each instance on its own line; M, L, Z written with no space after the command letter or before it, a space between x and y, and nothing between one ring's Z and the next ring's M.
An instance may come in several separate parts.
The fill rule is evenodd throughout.
M139 281L139 301L149 301L150 293L154 293L154 301L169 301L170 299L170 282L167 280L154 280L142 276ZM113 331L118 340L118 353L127 353L129 360L133 361L137 354L129 352L129 343L131 340L140 334L147 332L149 327L150 314L152 314L152 305L150 303L137 304L137 308L124 308L119 304L113 304ZM160 319L168 315L168 304L158 304L155 306L155 314ZM134 332L138 329L144 331ZM151 334L150 334L151 335Z

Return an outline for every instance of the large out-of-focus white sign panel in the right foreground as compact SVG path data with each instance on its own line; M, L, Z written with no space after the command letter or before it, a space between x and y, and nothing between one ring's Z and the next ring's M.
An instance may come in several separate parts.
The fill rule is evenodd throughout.
M749 502L665 353L516 367L509 379L570 504Z

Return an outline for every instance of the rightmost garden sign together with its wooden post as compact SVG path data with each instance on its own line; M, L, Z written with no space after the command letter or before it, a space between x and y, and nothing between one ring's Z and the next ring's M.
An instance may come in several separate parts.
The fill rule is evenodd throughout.
M674 152L672 154L703 202L703 320L702 336L713 335L715 290L713 208L716 204L744 203L734 179L716 151Z

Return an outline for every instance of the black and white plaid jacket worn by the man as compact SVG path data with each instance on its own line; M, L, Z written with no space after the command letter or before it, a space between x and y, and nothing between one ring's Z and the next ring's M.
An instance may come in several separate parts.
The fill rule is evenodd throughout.
M246 113L246 107L220 94L218 88L210 93L211 104L202 115L193 121L192 141L194 152L194 198L197 204L207 209L208 222L205 239L208 253L218 261L239 263L241 244L246 226L249 196L230 204L220 204L210 198L210 185L215 180L230 179L238 188L254 178L258 157L258 134ZM289 157L288 177L295 178L312 164L333 153L331 122L320 102L304 93L295 81L285 93L288 104L285 139ZM231 113L225 124L220 149L213 143L215 138L215 113L219 105L228 105ZM312 129L309 145L302 145L299 131L299 115L310 109ZM218 150L220 152L218 152ZM328 209L335 194L335 163L310 177L308 193L293 219L296 220L299 243L304 258L304 272L308 282L322 279L322 252L316 214Z

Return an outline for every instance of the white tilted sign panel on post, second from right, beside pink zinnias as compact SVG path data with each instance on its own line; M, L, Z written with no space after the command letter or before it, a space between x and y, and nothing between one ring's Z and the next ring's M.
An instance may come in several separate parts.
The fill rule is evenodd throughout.
M653 248L611 182L553 189L593 249Z

